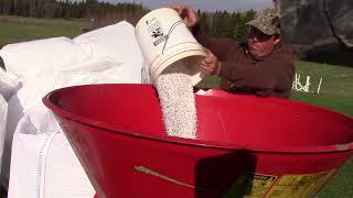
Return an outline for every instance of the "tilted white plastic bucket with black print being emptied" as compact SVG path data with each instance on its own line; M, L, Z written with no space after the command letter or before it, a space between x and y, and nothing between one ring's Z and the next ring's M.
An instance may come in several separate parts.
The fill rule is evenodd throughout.
M206 54L173 9L161 8L146 14L137 23L135 36L152 84L176 61L184 62L193 85L202 79L199 65Z

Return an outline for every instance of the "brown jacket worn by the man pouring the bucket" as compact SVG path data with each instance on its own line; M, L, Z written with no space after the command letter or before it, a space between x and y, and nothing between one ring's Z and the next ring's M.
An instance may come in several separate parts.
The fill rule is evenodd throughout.
M213 38L197 32L196 40L221 62L221 88L232 92L289 98L295 75L292 52L281 42L264 61L255 61L246 44Z

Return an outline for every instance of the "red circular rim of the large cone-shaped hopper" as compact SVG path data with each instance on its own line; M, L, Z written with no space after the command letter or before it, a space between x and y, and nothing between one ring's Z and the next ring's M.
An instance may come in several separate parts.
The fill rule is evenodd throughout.
M118 84L104 84L107 85L118 85ZM136 84L125 84L125 85L136 85ZM171 143L171 144L180 144L184 146L196 146L196 147L206 147L206 148L216 148L216 150L227 150L227 151L234 151L234 150L247 150L249 152L259 152L259 153L292 153L292 154L315 154L315 153L339 153L339 152L349 152L353 151L353 142L350 143L343 143L343 144L331 144L331 145L319 145L319 146L296 146L296 145L288 145L288 146L276 146L276 145L250 145L250 144L237 144L237 143L224 143L218 141L205 141L205 140L192 140L192 139L183 139L183 138L176 138L176 136L169 136L167 135L157 135L157 134L146 134L145 132L141 132L139 130L136 130L131 127L126 127L122 124L110 124L107 122L96 121L83 116L74 114L69 111L63 110L55 106L51 101L51 97L63 89L71 89L74 87L92 87L92 86L101 86L101 85L83 85L83 86L72 86L72 87L65 87L60 88L50 91L43 99L43 103L54 113L55 118L57 116L63 117L64 119L72 120L79 124L85 124L90 128L101 129L105 132L113 132L120 135L127 135L127 136L135 136L138 139L149 140L149 141L157 141L157 142L164 142L164 143ZM140 86L151 86L151 85L140 85ZM203 96L212 96L214 94L221 94L217 97L225 97L227 95L234 95L234 94L227 94L220 89L211 89L211 94L195 94L200 97ZM228 97L228 96L227 96ZM235 95L235 97L240 97L238 95ZM249 96L249 97L256 97L256 96ZM281 99L281 98L275 98L275 97L267 97L269 101L276 101L276 102L284 102L287 103L288 99ZM345 116L343 113L339 113L329 109L320 108L317 106L312 106L309 103L303 103L300 101L290 100L290 102L297 102L301 106L307 106L309 108L317 108L321 111L327 111L330 113L335 113L338 116L344 117L345 119L350 119L353 122L353 118ZM60 123L60 122L58 122ZM129 131L129 132L126 132ZM64 131L65 132L65 131ZM280 148L279 148L280 147Z

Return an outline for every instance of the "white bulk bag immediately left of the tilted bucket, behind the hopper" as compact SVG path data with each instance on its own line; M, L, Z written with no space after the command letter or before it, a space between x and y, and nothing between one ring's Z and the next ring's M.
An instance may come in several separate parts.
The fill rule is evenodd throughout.
M135 28L119 22L76 36L73 42L92 57L107 57L124 63L119 76L131 84L141 82L143 57L135 37Z

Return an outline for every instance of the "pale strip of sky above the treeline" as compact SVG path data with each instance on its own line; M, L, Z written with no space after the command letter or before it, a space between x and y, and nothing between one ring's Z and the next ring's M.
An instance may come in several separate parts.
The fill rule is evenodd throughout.
M202 11L244 11L244 10L259 10L272 7L272 0L98 0L107 1L110 3L117 2L136 2L142 3L149 9L157 9L171 4L189 4L195 10Z

